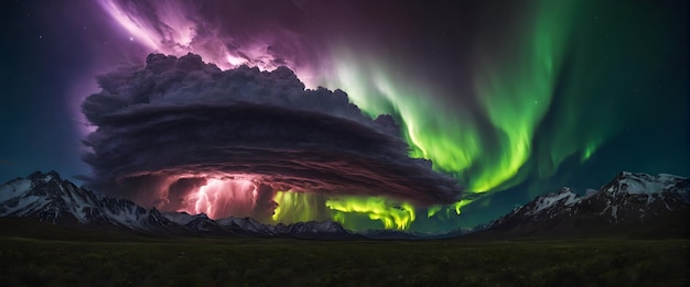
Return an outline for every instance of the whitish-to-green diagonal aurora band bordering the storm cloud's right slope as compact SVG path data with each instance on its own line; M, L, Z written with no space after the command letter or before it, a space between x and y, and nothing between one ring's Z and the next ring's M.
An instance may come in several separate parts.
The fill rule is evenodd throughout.
M334 75L324 86L345 90L349 99L369 115L392 114L401 124L411 157L433 161L433 167L460 176L482 154L482 137L472 112L448 110L442 102L429 101L422 85L391 78L385 62L364 58L343 48L337 53Z

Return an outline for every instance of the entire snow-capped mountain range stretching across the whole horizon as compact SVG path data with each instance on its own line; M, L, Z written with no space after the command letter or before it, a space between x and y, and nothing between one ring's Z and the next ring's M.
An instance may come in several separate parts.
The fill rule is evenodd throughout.
M269 225L251 218L212 220L206 214L162 212L97 195L55 172L33 173L0 186L0 218L33 219L89 230L173 236L259 236L326 240L416 240L463 236L590 238L688 236L690 180L660 174L621 173L585 196L563 188L539 196L471 231L420 233L376 230L355 233L334 221Z

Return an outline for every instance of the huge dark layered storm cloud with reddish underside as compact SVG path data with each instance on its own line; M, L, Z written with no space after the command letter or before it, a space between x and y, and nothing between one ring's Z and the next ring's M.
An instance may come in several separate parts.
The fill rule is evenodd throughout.
M260 183L254 205L261 210L274 208L273 190L418 205L461 194L430 162L407 156L391 117L371 120L341 90L305 90L285 67L220 70L193 54L151 54L145 67L98 82L103 90L82 106L98 126L84 141L93 148L84 155L90 185L139 202L175 209L212 177Z

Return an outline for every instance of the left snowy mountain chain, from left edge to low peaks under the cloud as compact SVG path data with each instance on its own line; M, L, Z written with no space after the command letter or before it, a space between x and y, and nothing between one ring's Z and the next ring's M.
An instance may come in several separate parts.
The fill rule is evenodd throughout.
M160 212L120 198L96 195L55 172L33 173L0 186L0 217L99 230L172 235L249 235L308 239L359 238L333 221L267 225L251 218L212 220L206 214Z

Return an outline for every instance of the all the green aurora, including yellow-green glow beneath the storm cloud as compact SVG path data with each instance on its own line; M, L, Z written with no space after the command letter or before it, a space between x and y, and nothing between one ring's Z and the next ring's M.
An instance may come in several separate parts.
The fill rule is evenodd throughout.
M665 24L662 15L640 21L646 9L644 3L619 10L595 1L538 1L510 16L511 23L487 27L483 34L510 36L476 40L473 73L465 75L472 78L474 92L444 95L470 99L468 104L452 110L427 96L448 91L406 77L411 73L398 73L406 70L405 65L393 64L386 55L337 45L333 48L335 67L322 86L345 90L371 117L393 115L408 140L410 156L431 159L434 169L455 176L467 191L455 205L417 211L395 199L279 192L281 207L273 219L294 222L325 217L358 230L362 220L355 219L365 216L386 229L408 229L414 227L416 213L456 219L477 199L489 199L530 177L553 176L571 158L585 163L642 111L644 98L630 97L635 96L630 92L651 89L655 84L649 75L664 69L658 55L677 46L672 35L644 29ZM634 35L634 31L647 32ZM636 86L626 87L630 82ZM625 109L622 101L627 102ZM536 196L543 190L529 192Z

